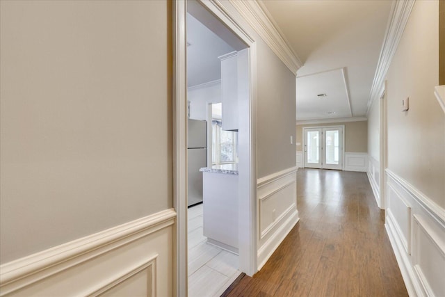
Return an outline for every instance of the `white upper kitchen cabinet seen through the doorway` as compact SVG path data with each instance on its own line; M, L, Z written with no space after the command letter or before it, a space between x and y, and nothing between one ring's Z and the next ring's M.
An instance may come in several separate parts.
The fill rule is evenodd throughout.
M238 55L232 51L218 58L221 61L223 130L238 131Z

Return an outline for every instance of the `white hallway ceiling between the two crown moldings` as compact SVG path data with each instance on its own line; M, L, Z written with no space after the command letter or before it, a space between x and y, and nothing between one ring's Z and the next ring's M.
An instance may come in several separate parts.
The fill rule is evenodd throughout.
M347 117L366 115L391 3L377 0L260 2L304 63L297 72L297 120L344 118L348 95L352 115L349 113ZM342 75L343 84L339 83ZM323 104L310 99L318 93L327 95ZM335 113L327 115L327 111Z

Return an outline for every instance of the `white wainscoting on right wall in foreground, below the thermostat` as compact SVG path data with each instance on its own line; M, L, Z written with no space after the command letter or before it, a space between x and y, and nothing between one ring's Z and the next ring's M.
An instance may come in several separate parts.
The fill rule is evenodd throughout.
M386 170L385 227L410 296L445 296L445 209Z

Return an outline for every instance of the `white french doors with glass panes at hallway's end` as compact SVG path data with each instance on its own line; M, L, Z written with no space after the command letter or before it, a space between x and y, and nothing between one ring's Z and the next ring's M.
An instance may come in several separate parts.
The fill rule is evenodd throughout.
M305 167L343 169L343 127L303 128Z

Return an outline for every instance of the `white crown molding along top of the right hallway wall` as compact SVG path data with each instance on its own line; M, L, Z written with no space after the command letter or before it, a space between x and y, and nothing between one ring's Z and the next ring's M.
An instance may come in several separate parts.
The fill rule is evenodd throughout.
M371 108L373 101L379 98L382 93L389 65L391 65L392 58L396 53L398 42L400 42L402 38L403 31L405 30L408 18L410 17L414 2L415 0L398 0L393 1L392 3L387 31L385 33L385 39L383 40L382 49L380 50L380 56L378 59L377 69L375 70L374 74L366 114L369 113L369 109Z

